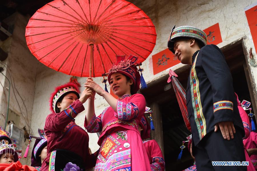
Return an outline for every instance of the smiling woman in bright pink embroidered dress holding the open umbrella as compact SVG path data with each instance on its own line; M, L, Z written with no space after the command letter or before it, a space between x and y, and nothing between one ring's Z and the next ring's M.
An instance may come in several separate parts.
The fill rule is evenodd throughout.
M89 133L101 133L95 170L151 170L138 131L146 101L143 95L136 93L140 85L136 61L136 56L130 55L126 59L117 56L117 62L109 70L108 82L118 100L91 78L85 83L85 87L103 96L110 105L96 117L94 98L89 99L85 128Z

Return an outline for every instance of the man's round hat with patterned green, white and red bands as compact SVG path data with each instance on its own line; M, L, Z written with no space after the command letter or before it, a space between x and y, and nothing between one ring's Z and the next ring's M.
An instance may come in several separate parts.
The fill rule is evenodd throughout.
M190 37L190 38L196 38L197 40L200 40L203 45L207 44L207 35L204 31L202 31L199 28L192 27L192 26L180 26L175 28L172 28L169 40L168 40L168 48L171 52L175 53L174 51L174 42L178 38L182 37Z

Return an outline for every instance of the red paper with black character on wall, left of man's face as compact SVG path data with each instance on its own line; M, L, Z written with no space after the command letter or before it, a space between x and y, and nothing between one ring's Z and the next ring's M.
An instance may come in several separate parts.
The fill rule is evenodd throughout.
M180 61L168 48L152 56L154 75L178 63L180 63Z

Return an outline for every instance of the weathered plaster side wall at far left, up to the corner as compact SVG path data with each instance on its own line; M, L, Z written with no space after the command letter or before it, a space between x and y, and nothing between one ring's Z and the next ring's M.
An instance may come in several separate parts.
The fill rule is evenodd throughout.
M17 113L20 117L19 128L25 127L27 134L35 132L30 128L32 108L35 95L35 80L38 61L31 54L26 45L25 28L29 17L15 13L5 19L8 25L14 25L13 35L7 40L2 42L1 47L8 53L5 63L3 74L9 79L10 87L10 100L9 109ZM0 66L4 66L2 63ZM0 74L0 81L3 87L0 88L0 125L4 127L5 117L7 114L7 101L8 101L8 80ZM24 139L25 141L25 139ZM27 147L27 141L22 141L23 154ZM21 159L21 162L27 162L27 159Z

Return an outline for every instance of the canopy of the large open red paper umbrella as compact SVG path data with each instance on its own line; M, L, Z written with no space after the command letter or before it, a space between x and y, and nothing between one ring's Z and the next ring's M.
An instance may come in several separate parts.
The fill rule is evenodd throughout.
M31 17L27 46L46 66L65 74L98 77L116 55L143 62L156 42L151 19L124 0L55 0Z

